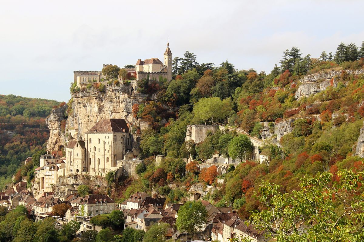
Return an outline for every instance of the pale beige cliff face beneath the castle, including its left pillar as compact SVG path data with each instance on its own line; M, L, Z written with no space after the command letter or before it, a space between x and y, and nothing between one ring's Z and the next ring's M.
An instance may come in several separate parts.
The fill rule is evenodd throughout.
M66 134L61 131L60 123L63 119L60 114L57 115L56 110L53 110L51 116L47 118L47 125L51 130L47 149L54 150L64 147L67 131L71 129L78 129L77 137L74 138L79 136L84 138L84 132L103 118L122 118L130 125L134 124L132 105L141 103L146 97L144 94L135 94L134 88L135 86L132 84L119 87L108 86L103 93L91 89L72 94L72 111L66 121Z

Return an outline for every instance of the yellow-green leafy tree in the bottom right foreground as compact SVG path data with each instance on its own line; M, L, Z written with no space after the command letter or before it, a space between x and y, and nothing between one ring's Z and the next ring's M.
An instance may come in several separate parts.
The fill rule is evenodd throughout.
M268 229L277 241L360 241L364 230L363 172L342 169L301 178L300 190L264 182L256 193L266 209L253 213L257 229Z

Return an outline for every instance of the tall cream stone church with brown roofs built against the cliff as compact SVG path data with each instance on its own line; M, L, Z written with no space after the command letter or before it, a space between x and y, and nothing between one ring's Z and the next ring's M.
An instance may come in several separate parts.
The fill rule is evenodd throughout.
M84 140L69 135L66 147L66 175L105 174L133 159L132 136L124 119L101 119L84 134Z

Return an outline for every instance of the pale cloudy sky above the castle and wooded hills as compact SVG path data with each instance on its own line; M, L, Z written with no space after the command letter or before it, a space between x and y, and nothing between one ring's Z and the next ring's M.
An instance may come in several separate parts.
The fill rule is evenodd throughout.
M364 1L0 0L0 94L70 99L74 70L122 67L186 50L267 73L292 46L335 53L364 41Z

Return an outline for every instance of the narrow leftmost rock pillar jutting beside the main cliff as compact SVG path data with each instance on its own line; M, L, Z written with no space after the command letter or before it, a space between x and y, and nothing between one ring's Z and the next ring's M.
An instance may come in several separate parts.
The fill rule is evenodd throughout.
M51 114L46 118L46 124L49 128L49 139L47 143L47 150L60 150L64 147L65 138L62 132L62 122L64 123L64 113L67 110L67 105L53 109Z

